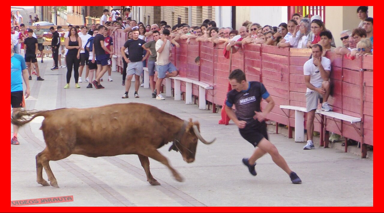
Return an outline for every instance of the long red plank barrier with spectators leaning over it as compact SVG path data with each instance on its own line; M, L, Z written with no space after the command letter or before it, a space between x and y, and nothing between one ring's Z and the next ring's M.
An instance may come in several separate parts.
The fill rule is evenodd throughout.
M124 43L122 38L126 35L119 35L118 32L114 36L118 41L114 50L120 50L119 45ZM179 41L179 44L180 48L172 49L171 58L179 69L179 75L214 86L214 89L207 90L206 99L222 105L227 95L230 64L230 59L223 56L224 45L198 43L194 39L189 44L186 40ZM117 54L119 56L119 51ZM291 128L295 123L295 113L291 111L287 118L279 106L306 106L303 65L310 55L310 49L249 44L232 55L232 70L242 69L248 81L262 82L276 104L267 118ZM195 64L197 56L200 57L200 67ZM334 112L361 117L362 123L352 125L326 117L325 129L362 142L361 151L365 157L366 144L373 145L373 56L350 60L328 52L326 57L331 59L332 66L330 78L333 94L329 97L329 104ZM185 91L184 84L181 89ZM193 94L198 96L197 86L194 86ZM265 105L263 101L262 106ZM316 115L316 118L314 130L321 132L321 116ZM327 135L321 135L321 141L324 136L327 138ZM325 145L328 145L327 142Z

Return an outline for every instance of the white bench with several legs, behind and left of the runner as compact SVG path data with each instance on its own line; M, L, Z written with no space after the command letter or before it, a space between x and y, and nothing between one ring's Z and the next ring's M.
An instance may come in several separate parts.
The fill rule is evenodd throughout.
M166 96L171 96L171 80L174 79L175 81L175 88L174 88L174 96L175 101L181 100L181 81L185 82L185 104L192 104L192 84L199 85L199 109L205 109L205 91L207 89L213 89L213 86L210 86L209 84L203 83L201 81L196 81L189 78L183 78L183 77L170 77L169 79L166 78Z

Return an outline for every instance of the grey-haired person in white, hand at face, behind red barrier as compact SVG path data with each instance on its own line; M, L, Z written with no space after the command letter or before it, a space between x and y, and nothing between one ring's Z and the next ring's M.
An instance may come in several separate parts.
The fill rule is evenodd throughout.
M306 48L308 35L311 32L311 20L302 18L300 24L295 27L295 31L290 38L289 43L293 48Z

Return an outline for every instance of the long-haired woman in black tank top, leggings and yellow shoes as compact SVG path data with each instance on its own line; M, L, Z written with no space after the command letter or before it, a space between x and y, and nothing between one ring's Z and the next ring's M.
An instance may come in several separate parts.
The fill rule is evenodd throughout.
M79 79L79 66L80 66L80 50L81 50L81 38L79 37L76 28L71 27L70 36L65 39L65 47L68 49L68 53L65 56L67 63L67 84L65 89L70 88L70 79L72 74L72 68L74 70L74 82L75 88L80 88L78 84Z

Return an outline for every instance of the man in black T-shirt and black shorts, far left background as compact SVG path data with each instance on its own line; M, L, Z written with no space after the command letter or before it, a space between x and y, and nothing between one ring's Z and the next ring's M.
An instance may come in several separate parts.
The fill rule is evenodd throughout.
M39 66L37 64L37 58L36 58L36 54L37 54L37 38L33 38L32 37L33 35L33 30L32 29L29 29L28 30L28 37L25 38L24 40L24 53L25 53L25 62L26 62L26 65L28 66L28 74L29 76L31 77L31 62L33 64L35 64L35 69L36 69L36 73L37 73L37 79L38 81L44 81L44 79L42 79L40 77L40 72L39 72Z

